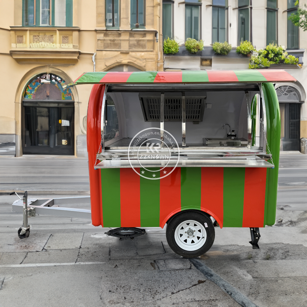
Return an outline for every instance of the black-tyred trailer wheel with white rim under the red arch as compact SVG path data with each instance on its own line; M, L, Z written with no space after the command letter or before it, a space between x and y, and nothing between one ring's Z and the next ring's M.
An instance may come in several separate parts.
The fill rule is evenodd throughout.
M186 258L203 255L212 246L214 238L212 221L201 211L182 211L167 223L167 243L176 254Z

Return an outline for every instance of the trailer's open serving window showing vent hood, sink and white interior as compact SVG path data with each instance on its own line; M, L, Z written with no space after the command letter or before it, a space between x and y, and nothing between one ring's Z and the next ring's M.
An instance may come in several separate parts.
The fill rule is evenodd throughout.
M138 86L134 90L130 85L128 91L123 91L122 85L110 86L105 149L127 148L138 132L155 127L172 134L182 150L260 150L262 111L258 85L246 89L238 88L238 84L223 86L194 90L183 86L178 90L163 85L153 90Z

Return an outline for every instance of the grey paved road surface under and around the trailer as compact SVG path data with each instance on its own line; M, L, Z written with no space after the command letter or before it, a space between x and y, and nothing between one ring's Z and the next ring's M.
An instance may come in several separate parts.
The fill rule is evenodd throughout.
M301 169L307 169L307 155L293 156L290 162L281 156L284 170L280 174L285 176L280 179L286 178L285 189L278 191L275 225L261 229L260 250L248 243L248 228L216 228L215 242L198 258L202 265L198 269L170 250L163 231L119 241L107 237L106 229L92 226L90 220L37 216L29 220L29 238L20 240L17 228L22 217L11 212L17 197L0 196L0 306L226 307L240 306L242 297L258 306L306 306L307 190L295 184L303 182ZM47 190L58 179L59 190L86 189L85 159L47 159L45 170L36 175L39 180L32 177L30 184L18 177L14 163L31 173L32 165L40 170L46 160L14 159L0 160L2 190L17 183ZM51 176L45 173L53 168L57 171L51 170ZM75 177L63 187L69 172ZM90 204L76 206L89 208ZM213 277L204 274L208 270ZM224 281L228 293L237 290L242 297L237 295L236 301L217 280Z

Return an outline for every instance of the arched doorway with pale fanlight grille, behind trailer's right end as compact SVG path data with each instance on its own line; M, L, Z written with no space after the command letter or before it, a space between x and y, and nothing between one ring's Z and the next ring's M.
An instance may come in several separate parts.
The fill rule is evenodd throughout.
M281 114L282 150L300 150L301 93L290 85L276 88Z

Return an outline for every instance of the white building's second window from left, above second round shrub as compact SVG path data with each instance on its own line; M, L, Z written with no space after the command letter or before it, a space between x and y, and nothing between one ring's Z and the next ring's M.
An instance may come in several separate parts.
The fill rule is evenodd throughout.
M185 4L185 39L200 40L200 5Z

